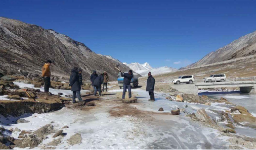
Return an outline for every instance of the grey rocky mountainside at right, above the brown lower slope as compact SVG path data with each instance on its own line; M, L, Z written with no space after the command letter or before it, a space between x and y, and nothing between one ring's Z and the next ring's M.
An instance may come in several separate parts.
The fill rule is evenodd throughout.
M218 49L217 51L210 52L199 61L192 63L180 69L197 67L211 63L231 60L235 58L246 57L256 54L256 31L240 37L239 39L231 42L230 44Z

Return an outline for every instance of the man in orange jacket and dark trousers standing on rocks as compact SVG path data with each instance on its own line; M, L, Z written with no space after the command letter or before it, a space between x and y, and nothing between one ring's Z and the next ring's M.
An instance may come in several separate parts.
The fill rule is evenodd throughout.
M49 88L51 86L51 71L50 71L50 65L51 65L52 61L51 60L47 60L46 63L44 64L44 66L42 67L42 78L44 79L45 82L45 92L48 93L49 92Z

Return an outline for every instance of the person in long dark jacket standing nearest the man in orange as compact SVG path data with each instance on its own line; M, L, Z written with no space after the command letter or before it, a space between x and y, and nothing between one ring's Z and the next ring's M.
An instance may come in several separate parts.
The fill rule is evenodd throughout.
M79 76L78 76L78 70L77 69L78 69L77 67L74 67L71 70L71 75L70 75L70 79L69 79L69 86L71 86L71 91L73 92L73 95L72 95L73 104L77 103L75 101L76 96L77 96L79 101L82 101L81 93L80 93L81 86L80 86L80 82L79 82Z

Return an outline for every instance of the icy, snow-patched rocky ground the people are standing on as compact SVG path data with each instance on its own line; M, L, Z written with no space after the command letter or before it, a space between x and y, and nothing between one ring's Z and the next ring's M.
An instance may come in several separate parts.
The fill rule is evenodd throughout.
M182 94L163 84L151 102L141 84L126 103L111 82L102 97L86 92L83 102L72 104L67 90L66 96L58 93L65 83L53 83L55 95L46 95L32 86L34 79L1 79L1 94L8 96L0 98L1 149L256 148L256 137L239 130L255 132L255 116L224 98ZM21 91L24 86L36 101Z

